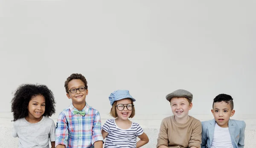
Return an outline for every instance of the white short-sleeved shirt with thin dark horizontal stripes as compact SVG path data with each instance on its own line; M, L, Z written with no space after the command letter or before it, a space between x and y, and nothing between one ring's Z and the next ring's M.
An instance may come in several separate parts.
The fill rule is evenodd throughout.
M114 119L107 120L102 129L108 133L105 148L136 148L137 136L143 134L138 123L132 122L128 129L121 129Z

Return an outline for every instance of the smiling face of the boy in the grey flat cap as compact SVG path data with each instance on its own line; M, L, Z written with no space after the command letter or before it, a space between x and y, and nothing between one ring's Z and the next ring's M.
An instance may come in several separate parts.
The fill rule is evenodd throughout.
M192 108L192 103L184 97L173 97L171 99L172 113L175 115L175 119L183 120L189 115L189 110Z

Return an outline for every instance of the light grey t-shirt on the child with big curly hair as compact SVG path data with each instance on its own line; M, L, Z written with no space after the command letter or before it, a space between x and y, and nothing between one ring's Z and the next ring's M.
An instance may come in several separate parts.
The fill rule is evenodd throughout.
M37 123L29 123L25 118L13 123L13 137L19 137L18 148L49 148L49 140L55 141L55 124L48 117Z

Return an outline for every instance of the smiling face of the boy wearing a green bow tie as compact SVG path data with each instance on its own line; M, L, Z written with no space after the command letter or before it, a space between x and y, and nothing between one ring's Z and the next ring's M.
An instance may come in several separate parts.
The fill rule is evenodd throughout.
M68 90L67 97L72 100L73 105L76 107L76 105L85 105L85 98L88 94L88 89L84 91L79 91L78 88L85 87L84 82L80 79L73 79L68 83ZM75 93L71 93L70 90L77 89Z

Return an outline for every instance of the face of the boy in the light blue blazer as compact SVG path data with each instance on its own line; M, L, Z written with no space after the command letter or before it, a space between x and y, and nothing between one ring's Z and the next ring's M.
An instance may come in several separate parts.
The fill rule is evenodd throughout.
M235 114L235 110L231 110L230 104L224 101L215 102L213 105L212 114L220 127L227 128L228 121L230 117Z

